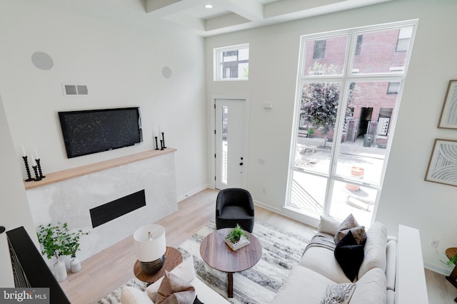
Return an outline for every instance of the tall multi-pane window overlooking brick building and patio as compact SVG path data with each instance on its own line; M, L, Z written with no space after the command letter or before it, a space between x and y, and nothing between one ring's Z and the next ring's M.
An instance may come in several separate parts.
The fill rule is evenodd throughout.
M301 37L285 207L308 224L352 213L370 226L416 24Z

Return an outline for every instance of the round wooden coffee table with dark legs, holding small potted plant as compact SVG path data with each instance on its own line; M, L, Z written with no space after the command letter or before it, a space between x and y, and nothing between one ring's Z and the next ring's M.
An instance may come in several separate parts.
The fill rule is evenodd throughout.
M249 236L249 245L233 251L225 242L230 230L219 229L206 236L201 242L200 254L209 266L229 274L227 295L233 298L233 273L245 271L256 265L262 257L262 246L256 236L246 232Z

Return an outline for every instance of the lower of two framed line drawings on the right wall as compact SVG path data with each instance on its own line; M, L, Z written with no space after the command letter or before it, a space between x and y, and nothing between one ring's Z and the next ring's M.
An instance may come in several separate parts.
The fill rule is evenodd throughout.
M425 180L457 186L456 140L435 140Z

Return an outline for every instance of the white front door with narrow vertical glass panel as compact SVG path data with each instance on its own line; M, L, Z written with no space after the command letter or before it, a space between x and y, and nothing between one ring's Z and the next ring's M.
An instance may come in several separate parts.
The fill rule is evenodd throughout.
M215 100L216 189L246 187L246 100Z

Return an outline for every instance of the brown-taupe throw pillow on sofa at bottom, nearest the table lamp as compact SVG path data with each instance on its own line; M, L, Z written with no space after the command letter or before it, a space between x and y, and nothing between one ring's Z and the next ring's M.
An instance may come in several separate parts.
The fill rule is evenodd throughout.
M195 299L195 288L179 276L165 271L164 280L157 290L156 304L189 304Z

